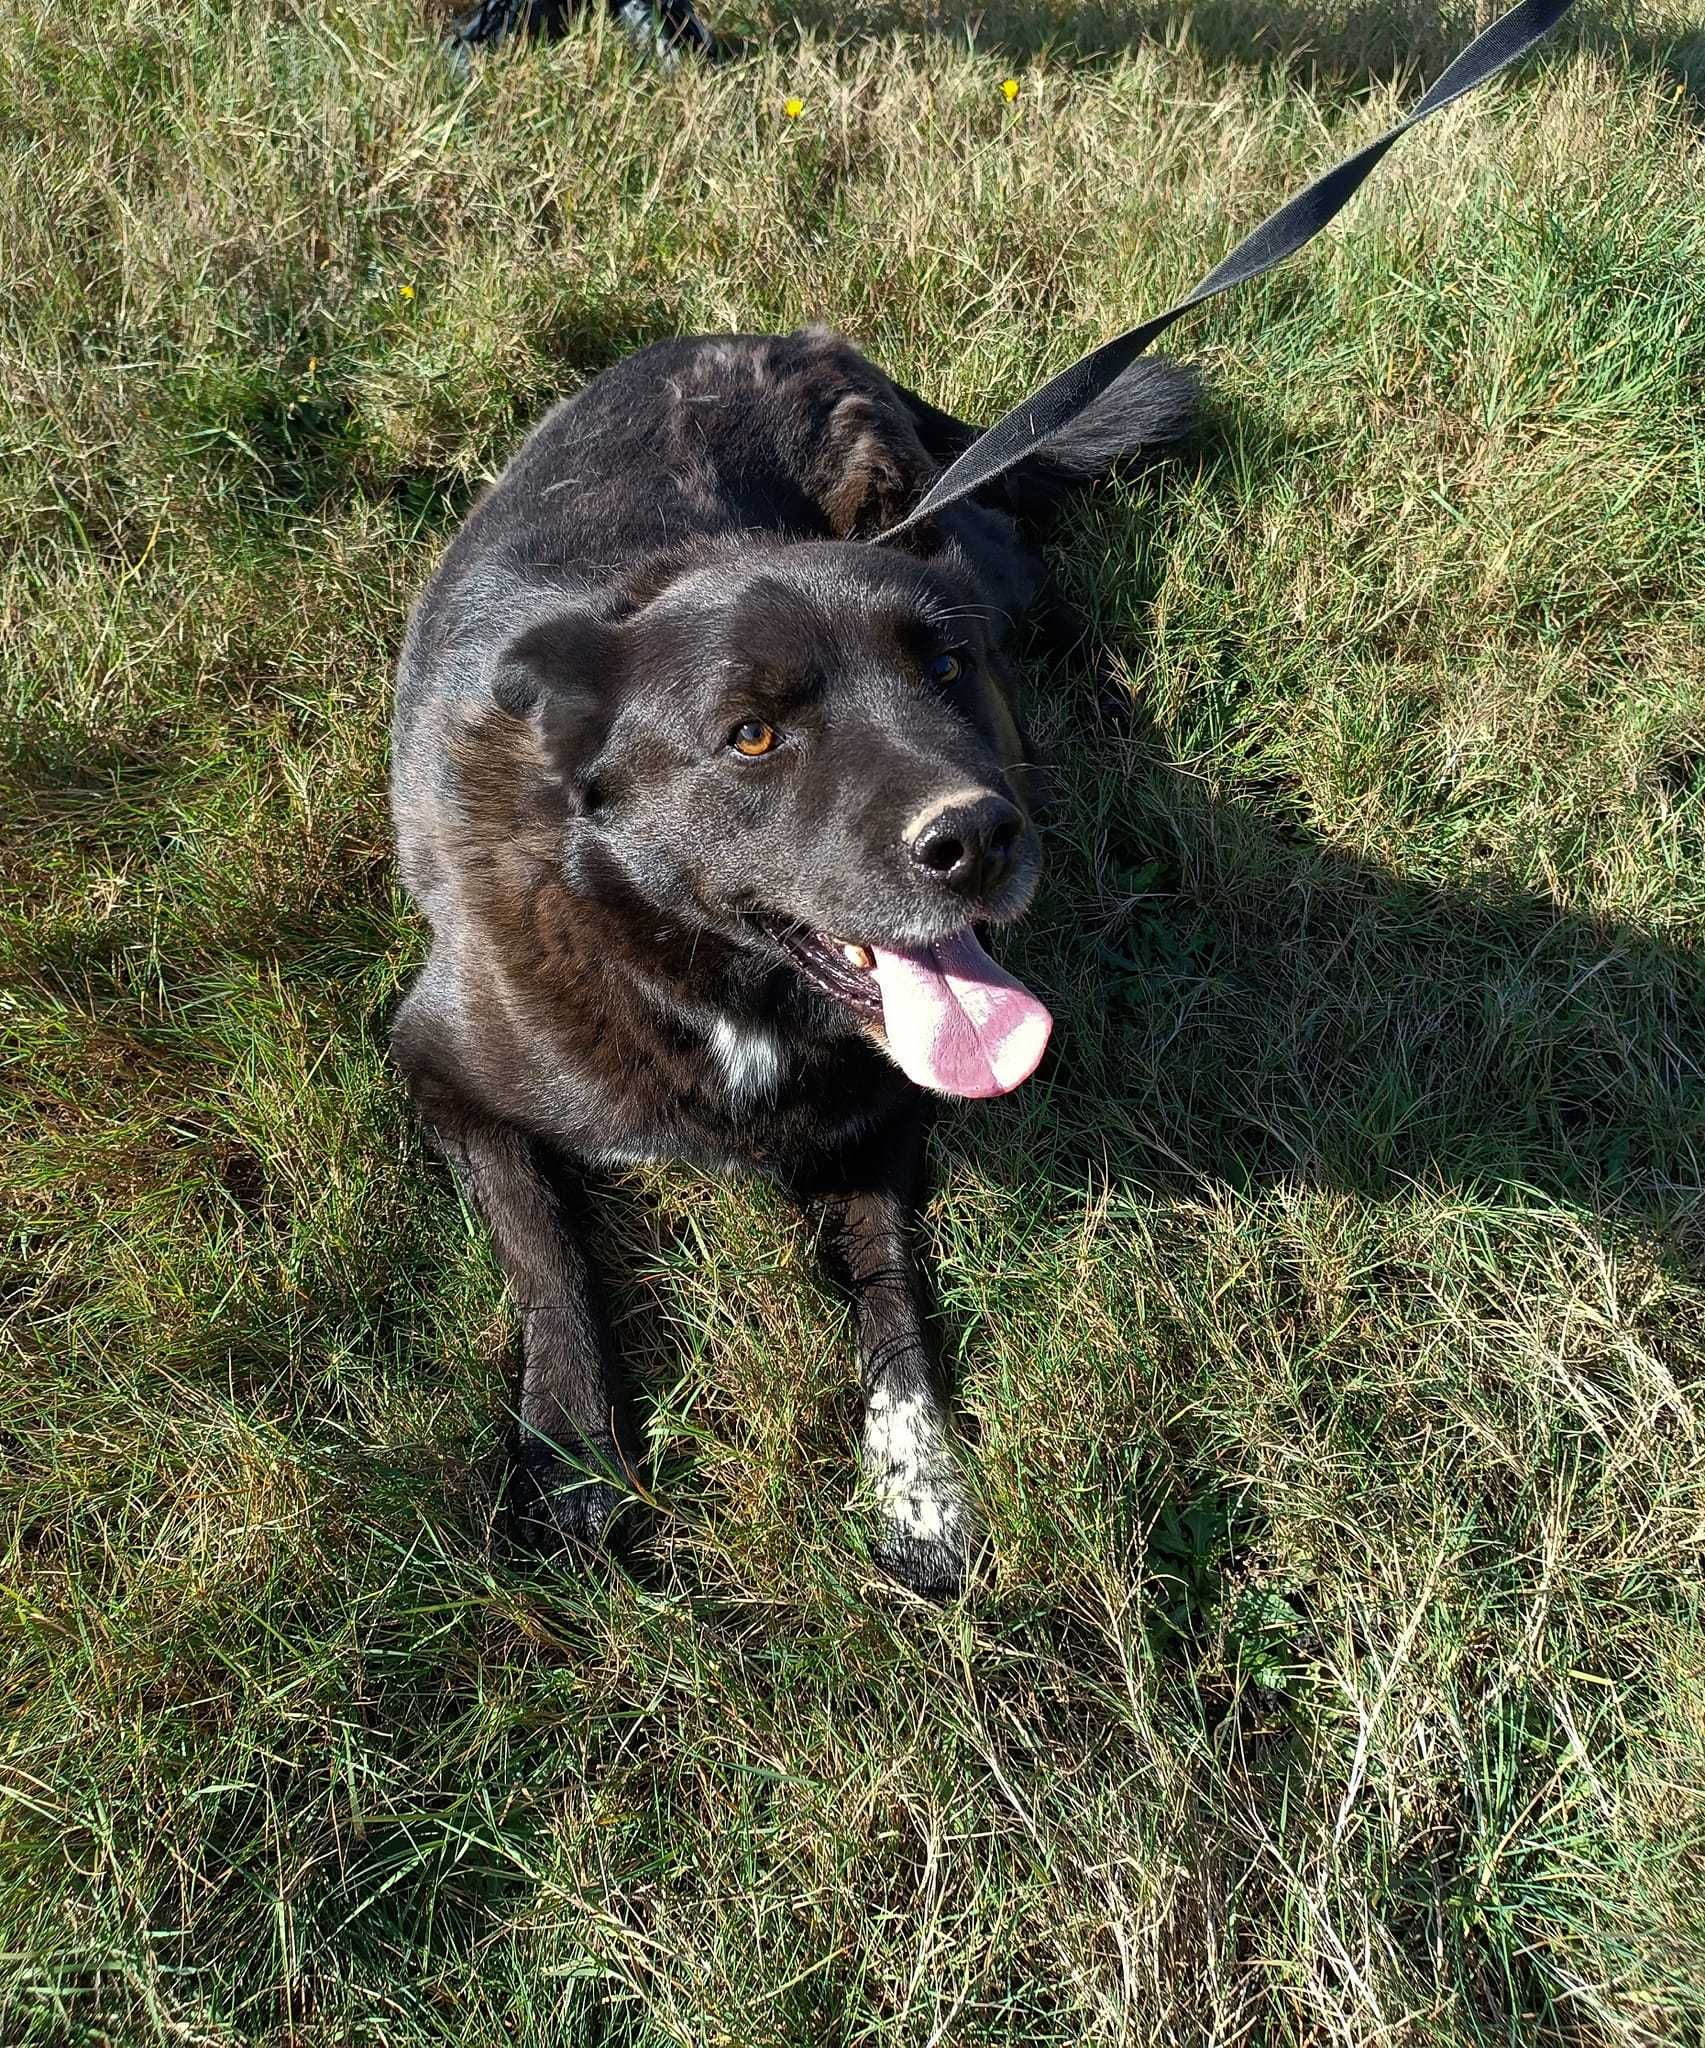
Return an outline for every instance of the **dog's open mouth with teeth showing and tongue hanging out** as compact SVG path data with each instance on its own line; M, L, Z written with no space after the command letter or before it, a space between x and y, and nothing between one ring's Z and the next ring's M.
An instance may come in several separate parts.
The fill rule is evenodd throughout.
M1048 1010L989 958L970 926L931 946L878 946L772 926L804 979L880 1024L894 1063L939 1096L1005 1096L1036 1073Z

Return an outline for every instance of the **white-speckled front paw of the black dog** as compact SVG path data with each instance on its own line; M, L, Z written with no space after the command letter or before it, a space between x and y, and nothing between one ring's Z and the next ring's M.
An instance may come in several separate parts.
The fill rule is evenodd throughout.
M935 1403L878 1386L864 1413L864 1466L876 1491L872 1554L882 1571L931 1599L962 1591L978 1526Z

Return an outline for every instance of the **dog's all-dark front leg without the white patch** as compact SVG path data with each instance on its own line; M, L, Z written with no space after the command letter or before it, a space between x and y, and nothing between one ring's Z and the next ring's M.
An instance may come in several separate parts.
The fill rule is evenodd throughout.
M491 1231L520 1315L520 1386L510 1513L555 1550L600 1544L630 1491L610 1325L598 1276L563 1206L563 1169L524 1130L444 1104L434 1137Z

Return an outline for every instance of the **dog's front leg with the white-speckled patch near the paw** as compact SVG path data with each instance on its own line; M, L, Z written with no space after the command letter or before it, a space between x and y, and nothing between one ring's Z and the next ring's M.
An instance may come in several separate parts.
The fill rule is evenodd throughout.
M956 1593L976 1524L929 1360L913 1229L925 1118L909 1112L811 1190L823 1251L847 1288L864 1389L864 1462L882 1516L876 1559L919 1593Z

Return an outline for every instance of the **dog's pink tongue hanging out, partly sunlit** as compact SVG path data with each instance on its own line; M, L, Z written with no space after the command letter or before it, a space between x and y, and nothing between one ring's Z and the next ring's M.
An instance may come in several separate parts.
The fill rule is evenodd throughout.
M870 950L888 1051L919 1087L1005 1096L1036 1073L1054 1020L989 958L974 932L919 952Z

